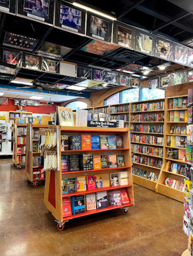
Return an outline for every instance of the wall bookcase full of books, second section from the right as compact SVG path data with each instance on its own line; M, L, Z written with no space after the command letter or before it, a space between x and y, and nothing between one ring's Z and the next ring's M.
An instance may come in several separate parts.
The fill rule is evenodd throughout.
M153 161L156 160L157 163L158 161L162 161L162 154L164 151L164 113L164 98L130 103L129 127L131 133L132 155L142 159L142 162L144 158L153 158ZM145 114L155 114L156 119L152 121L150 116L147 117ZM160 121L156 121L158 118ZM157 139L155 139L156 137ZM155 152L154 155L152 155L153 152ZM137 162L134 162L133 160L133 183L155 191L157 182L148 179L146 172L153 172L158 176L161 172L161 166L154 167L138 163L140 162L140 159ZM146 161L147 159L145 159L145 162Z

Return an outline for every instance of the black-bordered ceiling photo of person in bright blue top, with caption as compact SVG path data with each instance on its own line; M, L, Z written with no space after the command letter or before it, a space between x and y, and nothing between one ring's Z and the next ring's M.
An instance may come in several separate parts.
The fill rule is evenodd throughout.
M54 26L68 32L85 34L86 10L75 5L57 0L55 5Z

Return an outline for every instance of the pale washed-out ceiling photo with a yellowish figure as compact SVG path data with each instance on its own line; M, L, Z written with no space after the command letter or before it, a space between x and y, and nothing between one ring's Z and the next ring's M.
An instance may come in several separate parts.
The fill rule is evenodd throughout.
M148 55L155 54L155 35L136 29L135 51Z

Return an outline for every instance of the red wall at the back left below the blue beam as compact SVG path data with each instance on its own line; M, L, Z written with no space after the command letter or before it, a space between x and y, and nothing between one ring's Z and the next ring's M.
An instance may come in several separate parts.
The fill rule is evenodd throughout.
M39 104L46 104L46 102L40 101ZM60 103L55 103L55 105L60 106ZM14 105L13 99L8 99L8 105L0 105L0 111L16 111L19 110L18 106ZM39 114L49 114L50 112L56 112L56 108L53 106L26 106L23 107L23 110L27 112L39 113Z

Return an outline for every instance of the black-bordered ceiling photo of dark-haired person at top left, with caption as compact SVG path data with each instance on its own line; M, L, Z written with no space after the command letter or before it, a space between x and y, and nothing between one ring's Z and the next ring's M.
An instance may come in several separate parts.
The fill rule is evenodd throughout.
M18 0L17 15L53 25L54 0Z

